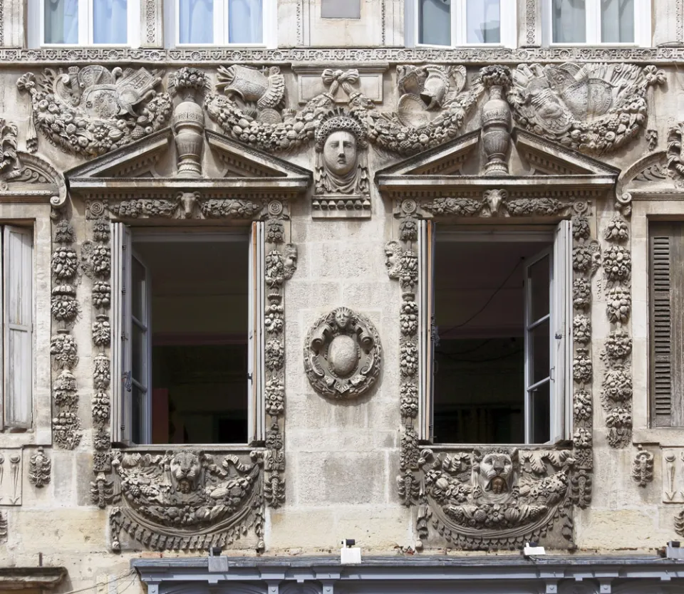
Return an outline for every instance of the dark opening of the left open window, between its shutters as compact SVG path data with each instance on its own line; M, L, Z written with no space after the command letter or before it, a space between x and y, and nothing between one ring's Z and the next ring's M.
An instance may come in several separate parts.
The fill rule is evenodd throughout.
M249 236L135 231L124 273L130 441L247 443Z

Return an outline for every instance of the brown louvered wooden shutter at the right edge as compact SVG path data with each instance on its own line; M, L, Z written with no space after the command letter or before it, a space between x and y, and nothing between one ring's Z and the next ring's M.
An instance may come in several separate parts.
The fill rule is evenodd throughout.
M651 424L683 427L684 224L650 227Z

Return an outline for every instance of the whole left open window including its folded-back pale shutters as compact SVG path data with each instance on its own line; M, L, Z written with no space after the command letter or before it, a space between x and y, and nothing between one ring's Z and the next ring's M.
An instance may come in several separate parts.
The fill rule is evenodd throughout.
M112 230L113 441L262 441L264 224Z

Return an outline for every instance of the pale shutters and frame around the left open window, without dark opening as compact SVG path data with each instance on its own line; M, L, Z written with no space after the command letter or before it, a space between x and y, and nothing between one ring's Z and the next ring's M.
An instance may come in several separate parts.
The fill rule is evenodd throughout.
M247 382L247 445L263 442L266 436L266 402L264 399L264 348L266 330L265 231L264 222L253 222L249 234L249 281L248 281L248 382ZM130 382L130 262L134 256L130 227L111 223L112 229L112 441L125 446L149 445L152 437L152 382L151 382L151 335L147 340L147 369L143 372L147 382L147 399L143 407L143 444L131 439L130 419L132 413ZM135 242L160 241L245 241L242 233L230 231L170 231L167 229L138 229ZM144 262L143 262L144 264ZM146 277L149 278L149 277ZM150 295L148 294L149 298ZM148 312L150 303L147 301ZM145 322L149 324L150 315ZM161 444L154 444L155 446ZM185 444L187 446L187 444ZM239 444L231 444L239 445Z

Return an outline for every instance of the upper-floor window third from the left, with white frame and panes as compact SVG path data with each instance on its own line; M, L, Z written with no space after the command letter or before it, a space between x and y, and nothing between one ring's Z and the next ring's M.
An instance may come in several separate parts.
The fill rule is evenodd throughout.
M415 0L415 10L420 45L514 46L512 0Z

